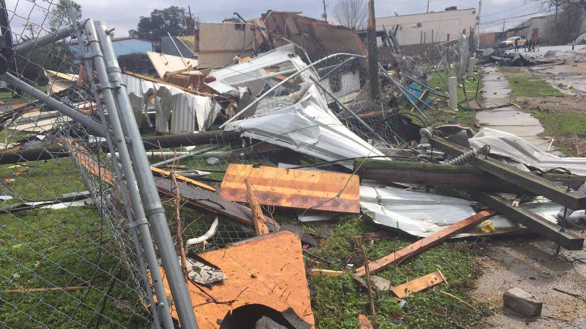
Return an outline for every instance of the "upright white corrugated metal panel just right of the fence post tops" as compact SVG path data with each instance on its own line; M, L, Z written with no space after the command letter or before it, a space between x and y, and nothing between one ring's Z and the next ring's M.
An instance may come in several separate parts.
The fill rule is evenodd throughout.
M156 104L155 99L155 111L158 117L155 119L157 132L205 131L212 126L220 113L221 107L212 97L195 95L169 84L155 83L128 74L122 74L122 80L128 89L128 94L142 97L143 100L156 92L157 97L160 98L159 105ZM140 104L140 102L133 102L133 104ZM141 110L144 111L144 109ZM166 124L169 118L168 112L171 113L173 123L170 131Z

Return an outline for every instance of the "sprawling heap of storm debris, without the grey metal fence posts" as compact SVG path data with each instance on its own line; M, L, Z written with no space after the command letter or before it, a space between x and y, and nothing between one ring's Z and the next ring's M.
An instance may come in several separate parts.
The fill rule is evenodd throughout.
M216 217L202 236L178 241L180 251L184 245L188 249L180 263L200 328L311 328L315 319L306 273L352 275L372 296L372 274L450 238L532 231L563 248L582 248L584 238L566 228L584 219L586 159L556 157L494 129L473 133L454 125L428 127L421 111L435 105L428 95L445 96L422 81L425 74L413 59L390 56L394 62L376 70L381 95L368 99L362 43L344 50L352 56L329 51L355 31L316 28L320 22L291 13L265 16L265 30L252 28L258 42L246 49L248 58L230 54L229 63L201 67L205 52L199 61L151 53L161 78L123 76L138 125L172 134L145 138L148 148L205 145L151 167L162 197L176 195L186 207ZM307 35L329 43L298 46L296 40ZM204 40L200 34L200 45ZM287 44L275 47L277 40ZM398 47L392 38L385 42ZM499 65L536 64L531 57L499 50L486 57ZM46 74L52 92L90 82L81 73ZM95 105L84 101L75 103L80 111L97 116ZM420 115L398 111L399 101ZM27 115L49 119L49 126L58 123L35 104L25 109L6 118L3 126L26 131L21 120ZM67 151L63 156L72 156L115 189L115 174L100 167L79 140L62 137L59 143ZM105 142L92 140L90 145L103 148ZM9 162L9 153L22 159L30 152L6 147L11 149L0 155L1 163ZM200 159L206 167L181 167L189 159ZM269 166L271 162L277 166ZM223 172L222 164L227 168L222 180L215 181L221 184L203 183L213 170ZM81 197L64 196L67 202ZM300 222L362 215L383 229L421 239L363 266L306 269L306 246L319 246L318 237L280 223L267 207L295 214ZM220 231L220 221L238 222L255 237L202 252L208 240L226 233ZM163 268L159 270L164 278ZM449 279L438 269L389 286L388 293L404 300ZM172 315L177 317L175 309Z

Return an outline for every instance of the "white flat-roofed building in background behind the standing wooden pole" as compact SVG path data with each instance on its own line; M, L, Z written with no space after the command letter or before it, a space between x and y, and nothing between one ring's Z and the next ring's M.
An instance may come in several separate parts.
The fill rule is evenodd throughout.
M445 42L474 33L476 9L454 9L442 12L414 13L411 15L376 18L376 29L393 29L397 24L397 40L407 44Z

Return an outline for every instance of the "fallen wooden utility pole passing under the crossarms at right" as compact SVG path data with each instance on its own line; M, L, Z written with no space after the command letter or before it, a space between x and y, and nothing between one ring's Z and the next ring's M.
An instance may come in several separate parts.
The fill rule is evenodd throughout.
M354 161L354 168L360 179L375 180L384 184L410 183L534 195L533 191L523 189L476 167L359 158ZM570 183L573 189L578 189L586 182L586 176L580 175L546 173L537 177L543 177L564 186Z

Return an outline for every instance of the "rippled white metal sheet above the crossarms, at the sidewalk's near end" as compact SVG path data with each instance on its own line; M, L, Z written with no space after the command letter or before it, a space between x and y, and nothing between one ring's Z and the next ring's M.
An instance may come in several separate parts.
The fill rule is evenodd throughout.
M586 174L586 157L559 157L541 151L523 138L492 128L483 128L470 139L473 149L490 146L490 154L506 157L529 167L549 170L563 167L574 174Z

